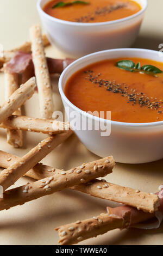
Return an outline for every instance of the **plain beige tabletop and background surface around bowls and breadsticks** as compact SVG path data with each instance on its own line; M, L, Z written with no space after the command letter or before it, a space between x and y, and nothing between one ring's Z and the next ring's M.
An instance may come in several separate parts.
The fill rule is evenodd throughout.
M17 46L29 38L30 25L40 23L36 10L36 0L0 0L0 43L5 49ZM158 50L163 43L162 0L148 0L148 10L134 47ZM56 48L48 47L47 56L64 57ZM58 94L58 78L54 78L55 109L62 109ZM0 75L0 103L4 101L3 75ZM37 94L23 108L24 114L39 117ZM6 143L6 133L0 130L0 149L22 156L33 148L45 136L36 133L24 133L24 147L13 149ZM152 145L151 145L152 147ZM153 149L154 150L154 149ZM71 168L87 161L98 159L91 154L73 136L49 154L43 163L58 168ZM158 191L163 183L163 160L148 164L117 163L114 173L107 180L116 184L139 188L142 191ZM28 178L22 178L17 185L26 184ZM106 200L89 197L85 194L65 190L52 196L0 212L0 245L57 245L58 235L54 228L76 220L84 220L102 212L106 206L114 206ZM82 245L162 245L163 225L158 230L114 230L86 240Z

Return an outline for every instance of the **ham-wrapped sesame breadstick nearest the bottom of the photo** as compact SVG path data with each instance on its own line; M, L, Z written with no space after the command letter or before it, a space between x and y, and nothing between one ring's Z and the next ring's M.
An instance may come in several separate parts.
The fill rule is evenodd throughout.
M73 245L91 237L102 235L110 230L133 227L155 217L155 214L138 211L130 206L108 207L107 210L108 214L101 214L88 220L77 221L56 228L55 230L58 231L60 237L59 244ZM163 216L163 199L160 200L159 212L156 213L156 216L157 214ZM144 227L146 228L147 225L144 225ZM137 225L137 228L140 228L140 225Z

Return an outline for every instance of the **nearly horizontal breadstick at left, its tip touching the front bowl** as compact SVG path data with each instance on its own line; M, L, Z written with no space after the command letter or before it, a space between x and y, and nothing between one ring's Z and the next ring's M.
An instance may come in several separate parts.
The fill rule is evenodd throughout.
M11 115L0 127L22 131L58 134L70 129L68 123L52 119L29 118L25 116Z

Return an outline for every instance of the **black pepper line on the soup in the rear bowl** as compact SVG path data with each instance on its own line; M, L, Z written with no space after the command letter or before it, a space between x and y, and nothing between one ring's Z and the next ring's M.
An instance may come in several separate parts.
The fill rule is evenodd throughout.
M93 13L89 13L85 16L80 17L79 19L75 19L76 22L89 22L95 20L97 16L106 15L112 13L112 11L127 7L127 3L114 4L110 6L105 6L103 8L97 8Z

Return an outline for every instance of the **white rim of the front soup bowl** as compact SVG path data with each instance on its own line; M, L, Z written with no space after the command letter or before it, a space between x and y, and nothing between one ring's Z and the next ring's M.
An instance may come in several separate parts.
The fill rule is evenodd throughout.
M67 68L62 72L60 78L59 78L59 82L58 82L58 87L59 87L59 92L61 95L61 98L64 99L64 101L67 103L67 105L69 105L70 107L72 107L74 110L76 110L77 112L79 112L82 115L85 115L86 117L89 117L91 119L95 119L96 121L100 121L100 122L106 122L106 123L111 123L112 125L118 125L118 126L127 126L127 127L151 127L151 126L160 126L163 125L163 121L158 121L158 122L152 122L152 123L125 123L125 122L120 122L120 121L113 121L113 120L108 120L108 119L104 119L104 118L98 118L94 115L91 115L85 111L83 111L82 109L78 108L77 106L75 106L70 100L68 100L68 98L66 97L64 90L62 89L62 80L64 78L64 76L66 75L66 73L68 72L68 70L78 64L79 62L87 59L87 58L91 58L92 56L95 55L100 55L102 53L108 53L108 52L121 52L121 51L140 51L140 52L148 52L148 53L158 53L158 51L154 51L154 50L148 50L148 49L140 49L140 48L118 48L118 49L111 49L111 50L104 50L104 51L99 51L99 52L94 52L91 54L88 54L82 58L79 58L77 60L75 60L74 62L72 62L70 65L67 66ZM163 54L162 54L163 56ZM93 63L93 62L92 62Z

